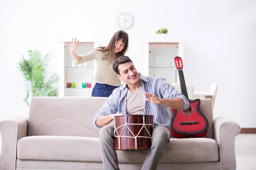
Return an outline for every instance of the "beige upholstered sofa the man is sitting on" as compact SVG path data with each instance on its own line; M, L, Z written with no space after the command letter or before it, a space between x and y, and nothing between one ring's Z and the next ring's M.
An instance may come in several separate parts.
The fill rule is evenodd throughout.
M101 97L35 97L29 118L0 122L1 170L102 170L99 128L93 115ZM209 121L206 138L172 136L158 170L235 170L235 139L240 126L228 117L213 121L211 99L202 99ZM17 113L19 114L19 113ZM140 170L148 150L118 150L121 170Z

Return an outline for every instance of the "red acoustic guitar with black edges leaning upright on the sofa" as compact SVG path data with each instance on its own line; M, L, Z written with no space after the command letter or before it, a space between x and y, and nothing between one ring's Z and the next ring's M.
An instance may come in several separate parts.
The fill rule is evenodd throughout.
M183 63L180 57L175 57L175 66L179 73L181 93L189 99L186 83L183 75ZM172 117L170 131L176 138L200 138L204 137L208 130L208 120L201 113L201 100L189 100L189 108L186 110L172 109L174 116Z

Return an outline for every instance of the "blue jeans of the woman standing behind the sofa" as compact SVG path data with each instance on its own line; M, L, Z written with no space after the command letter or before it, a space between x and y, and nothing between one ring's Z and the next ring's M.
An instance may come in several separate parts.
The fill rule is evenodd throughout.
M117 86L95 83L92 97L109 97Z

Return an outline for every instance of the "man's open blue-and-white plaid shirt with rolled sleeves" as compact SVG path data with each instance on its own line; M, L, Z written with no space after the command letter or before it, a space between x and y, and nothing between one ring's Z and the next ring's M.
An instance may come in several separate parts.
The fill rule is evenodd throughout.
M141 77L141 82L143 85L143 94L148 92L154 94L160 99L173 99L178 97L182 99L185 103L183 109L189 108L189 101L186 97L177 91L172 85L166 83L166 81L161 77L148 77L143 76L139 73ZM108 97L107 102L102 106L102 108L97 111L94 115L94 126L96 125L96 120L99 116L115 114L117 111L122 114L127 114L127 94L128 88L126 83L123 83L119 88L113 90L113 93ZM151 102L145 101L145 95L143 95L144 100L144 114L154 116L154 126L164 126L169 130L171 125L171 115L168 106L161 104L153 104Z

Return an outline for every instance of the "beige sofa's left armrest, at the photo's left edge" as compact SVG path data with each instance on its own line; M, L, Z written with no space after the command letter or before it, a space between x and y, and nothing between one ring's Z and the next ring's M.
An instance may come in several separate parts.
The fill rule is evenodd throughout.
M17 141L27 136L28 120L23 116L15 116L12 119L0 122L0 137L2 147L0 155L1 170L15 170L17 158Z

